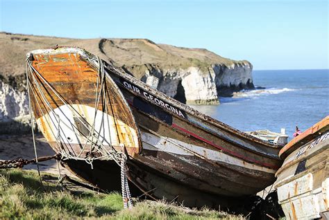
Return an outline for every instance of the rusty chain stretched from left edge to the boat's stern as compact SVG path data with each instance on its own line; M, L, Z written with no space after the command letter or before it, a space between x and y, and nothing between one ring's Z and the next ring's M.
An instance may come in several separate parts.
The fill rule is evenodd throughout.
M0 161L0 169L22 168L30 163L36 163L36 161L49 161L51 159L60 160L60 154L55 154L53 156L42 156L40 158L37 158L37 160L35 158L32 160L27 160L24 158L15 158L13 160Z

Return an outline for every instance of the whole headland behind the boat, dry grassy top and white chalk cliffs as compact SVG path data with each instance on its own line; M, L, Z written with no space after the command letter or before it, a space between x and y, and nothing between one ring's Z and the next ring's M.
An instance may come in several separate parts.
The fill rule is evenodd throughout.
M28 113L25 56L50 46L78 46L187 104L219 104L219 96L253 89L253 66L199 48L155 44L148 39L69 39L0 33L0 122ZM0 131L1 133L1 131Z

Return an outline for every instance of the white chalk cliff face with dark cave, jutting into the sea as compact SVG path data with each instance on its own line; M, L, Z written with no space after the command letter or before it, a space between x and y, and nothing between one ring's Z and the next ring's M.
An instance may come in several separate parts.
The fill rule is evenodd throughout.
M145 75L160 78L158 90L174 98L183 86L186 104L219 104L219 95L253 88L253 66L250 63L223 66L214 64L208 71L191 66L187 69L150 68ZM180 94L182 95L182 94Z

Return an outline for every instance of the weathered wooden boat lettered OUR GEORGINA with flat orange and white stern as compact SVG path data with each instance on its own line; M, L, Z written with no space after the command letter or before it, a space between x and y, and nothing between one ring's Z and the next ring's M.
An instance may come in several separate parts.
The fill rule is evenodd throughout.
M115 163L96 151L103 145L126 151L129 180L153 199L218 208L236 204L275 181L280 145L205 116L81 48L42 49L27 57L37 124L56 152L65 151L65 166L96 187L119 190L114 185L119 182ZM94 108L97 75L102 74L106 95ZM46 101L53 110L47 110ZM53 112L63 118L60 126L52 120ZM94 148L86 139L90 133L96 139ZM83 146L88 150L81 154ZM92 167L85 163L91 160Z

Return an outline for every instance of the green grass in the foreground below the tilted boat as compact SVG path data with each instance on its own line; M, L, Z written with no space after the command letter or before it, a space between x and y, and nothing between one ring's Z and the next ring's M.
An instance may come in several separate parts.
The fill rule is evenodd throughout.
M215 210L194 210L163 201L135 201L124 210L121 195L74 185L56 186L57 177L35 171L0 169L0 219L243 219Z

